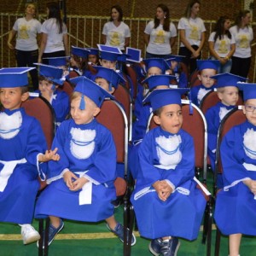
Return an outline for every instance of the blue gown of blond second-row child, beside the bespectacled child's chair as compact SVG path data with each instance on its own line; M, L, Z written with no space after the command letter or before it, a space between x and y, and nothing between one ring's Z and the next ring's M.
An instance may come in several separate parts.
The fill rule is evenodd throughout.
M215 170L218 127L224 116L235 107L225 106L222 102L218 102L215 106L207 110L207 154L210 157L213 171Z

